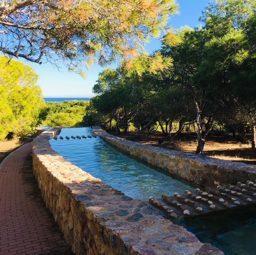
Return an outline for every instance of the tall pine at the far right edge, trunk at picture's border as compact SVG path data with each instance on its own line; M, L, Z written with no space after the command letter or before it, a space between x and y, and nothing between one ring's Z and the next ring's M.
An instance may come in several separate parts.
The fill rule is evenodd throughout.
M228 106L234 109L233 120L239 116L241 122L243 116L244 127L251 127L252 148L256 143L255 14L252 0L221 0L206 9L204 30L213 37L205 44L197 79L211 84L212 91L222 92L218 101L223 113L230 112ZM224 118L228 120L227 114Z

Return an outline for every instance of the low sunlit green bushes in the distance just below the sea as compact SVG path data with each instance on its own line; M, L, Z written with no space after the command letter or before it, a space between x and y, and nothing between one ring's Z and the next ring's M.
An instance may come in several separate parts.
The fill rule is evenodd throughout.
M46 102L40 112L42 124L50 127L80 127L88 101Z

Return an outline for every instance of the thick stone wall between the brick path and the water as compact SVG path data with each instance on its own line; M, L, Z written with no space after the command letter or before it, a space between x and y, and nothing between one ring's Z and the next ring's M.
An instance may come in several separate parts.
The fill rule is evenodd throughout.
M164 219L149 203L124 195L66 161L48 141L59 132L45 131L34 139L33 168L46 206L76 255L224 254Z

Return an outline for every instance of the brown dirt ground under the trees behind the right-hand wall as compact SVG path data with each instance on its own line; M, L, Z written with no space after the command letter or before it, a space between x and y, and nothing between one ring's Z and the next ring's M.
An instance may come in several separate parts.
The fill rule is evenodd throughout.
M117 135L117 133L112 134ZM130 140L135 135L136 133L121 133L119 137ZM169 139L158 145L159 139L163 137L164 135L162 135L162 133L154 133L152 135L143 133L139 139L134 141L190 153L195 153L196 151L197 142L195 133L183 133L180 137L176 137L174 140ZM250 149L248 143L240 143L231 136L211 136L206 139L204 155L256 165L256 150Z

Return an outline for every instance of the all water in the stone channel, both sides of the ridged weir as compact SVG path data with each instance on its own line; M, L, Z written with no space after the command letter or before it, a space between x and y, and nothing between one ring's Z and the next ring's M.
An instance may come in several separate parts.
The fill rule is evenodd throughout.
M92 135L91 128L64 128L61 134ZM52 148L66 160L134 198L148 201L153 195L173 195L196 188L182 179L156 171L119 153L102 139L50 140ZM225 255L255 255L256 205L190 217L174 223L183 225L203 243L211 243Z

